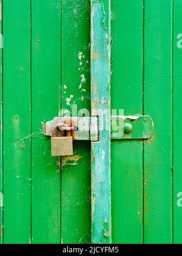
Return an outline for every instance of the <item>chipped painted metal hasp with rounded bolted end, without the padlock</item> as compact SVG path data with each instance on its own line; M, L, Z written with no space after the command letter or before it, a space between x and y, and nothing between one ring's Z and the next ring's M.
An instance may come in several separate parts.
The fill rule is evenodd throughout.
M53 136L56 125L63 123L72 127L73 140L99 140L98 117L55 117L45 124L45 135ZM152 137L154 124L148 115L112 116L111 139L112 140L147 140Z

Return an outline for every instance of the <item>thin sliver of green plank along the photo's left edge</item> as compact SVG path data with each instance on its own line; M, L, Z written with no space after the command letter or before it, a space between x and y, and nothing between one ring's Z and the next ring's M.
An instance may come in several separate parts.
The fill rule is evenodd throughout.
M2 163L2 48L3 48L3 37L2 37L2 1L0 1L0 65L1 65L1 73L0 73L0 223L1 223L1 244L2 244L2 235L3 235L3 163Z

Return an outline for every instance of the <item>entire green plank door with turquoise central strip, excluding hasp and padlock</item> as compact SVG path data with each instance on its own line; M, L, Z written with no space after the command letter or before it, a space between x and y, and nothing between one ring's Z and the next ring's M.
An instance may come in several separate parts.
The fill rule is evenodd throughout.
M181 244L182 1L1 2L1 243ZM152 138L51 157L74 105L149 115Z

